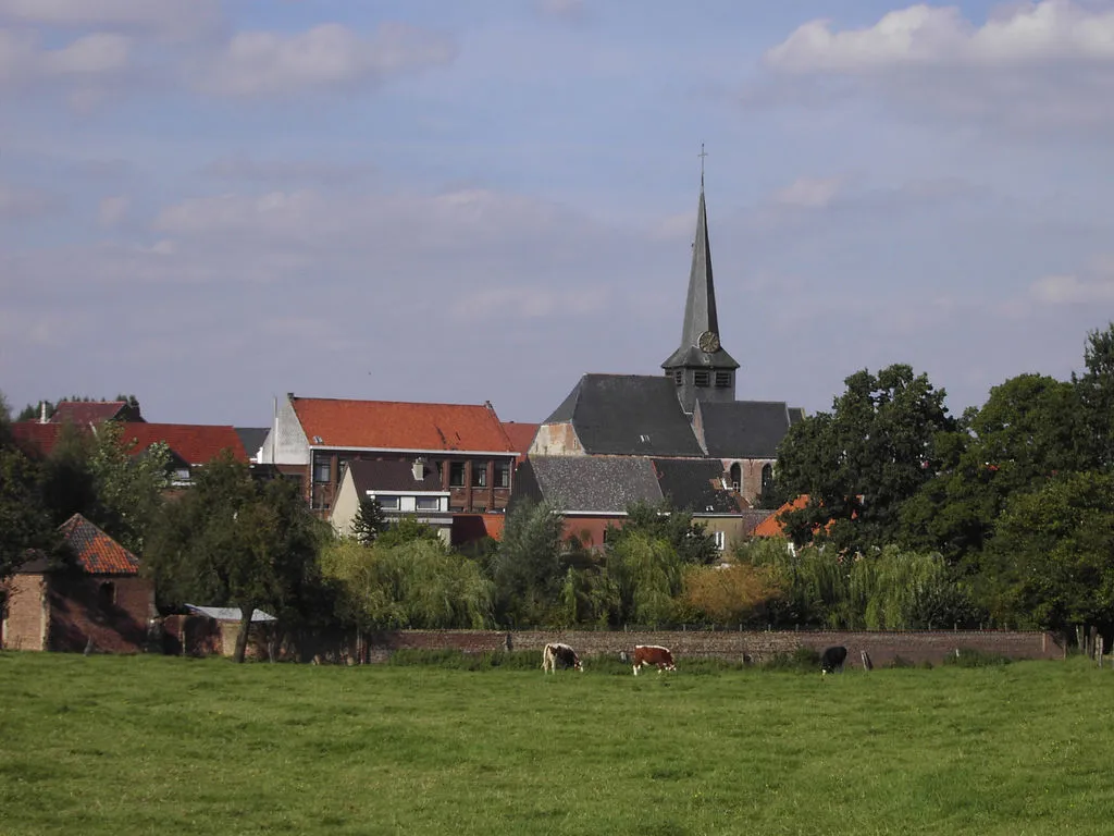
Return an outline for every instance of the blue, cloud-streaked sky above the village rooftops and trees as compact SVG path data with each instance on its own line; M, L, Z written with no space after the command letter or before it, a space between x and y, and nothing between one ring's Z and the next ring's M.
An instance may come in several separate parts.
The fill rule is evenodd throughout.
M1114 320L1112 103L1114 0L0 0L0 391L541 421L663 373L703 162L737 397L958 415Z

